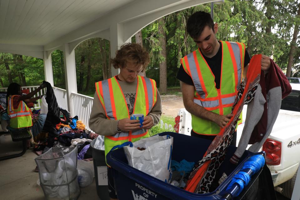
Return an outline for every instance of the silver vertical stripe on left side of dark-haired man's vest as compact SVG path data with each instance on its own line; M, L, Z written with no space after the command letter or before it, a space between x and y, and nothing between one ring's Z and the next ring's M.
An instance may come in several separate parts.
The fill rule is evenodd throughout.
M188 62L188 65L190 67L190 70L191 70L190 75L193 79L196 91L200 95L200 97L204 99L205 98L205 93L203 92L203 89L202 89L202 86L201 86L201 83L200 83L199 74L198 74L198 71L197 71L197 68L196 68L196 61L195 61L193 53L187 54L187 62Z

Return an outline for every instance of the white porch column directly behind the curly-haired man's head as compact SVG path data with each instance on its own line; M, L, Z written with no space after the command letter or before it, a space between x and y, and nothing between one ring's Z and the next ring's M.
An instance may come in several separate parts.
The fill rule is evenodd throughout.
M120 49L122 44L131 42L131 38L124 38L123 24L114 24L110 27L110 54L116 57L116 51ZM112 77L119 74L119 69L112 68Z

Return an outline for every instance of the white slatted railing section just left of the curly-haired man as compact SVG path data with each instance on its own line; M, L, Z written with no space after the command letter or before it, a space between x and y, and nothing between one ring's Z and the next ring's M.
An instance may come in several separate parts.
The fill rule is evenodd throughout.
M85 128L91 131L88 126L88 121L90 119L94 98L83 94L72 93L72 99L75 106L75 114L79 120L83 122Z

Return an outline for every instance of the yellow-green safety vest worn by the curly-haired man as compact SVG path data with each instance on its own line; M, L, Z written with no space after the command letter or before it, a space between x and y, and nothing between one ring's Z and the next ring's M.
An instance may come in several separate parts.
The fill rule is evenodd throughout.
M157 100L156 82L153 79L141 76L138 76L137 81L138 84L133 114L143 114L144 116L147 116ZM120 120L130 118L123 91L116 77L95 84L98 98L108 119ZM112 136L105 136L105 158L107 153L116 145L123 144L127 141L135 142L148 137L148 131L143 128L135 131L116 133Z

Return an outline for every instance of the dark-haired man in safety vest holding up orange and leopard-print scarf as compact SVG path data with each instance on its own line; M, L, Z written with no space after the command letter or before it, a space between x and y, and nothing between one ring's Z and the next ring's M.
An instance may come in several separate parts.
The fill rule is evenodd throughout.
M199 11L187 20L187 32L198 49L181 59L177 78L182 82L183 103L192 115L191 136L213 140L233 116L237 87L247 72L250 56L243 43L218 41L218 24ZM262 70L270 59L262 56ZM232 139L236 145L236 134Z

